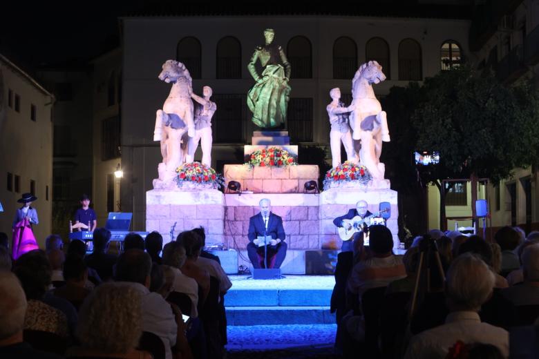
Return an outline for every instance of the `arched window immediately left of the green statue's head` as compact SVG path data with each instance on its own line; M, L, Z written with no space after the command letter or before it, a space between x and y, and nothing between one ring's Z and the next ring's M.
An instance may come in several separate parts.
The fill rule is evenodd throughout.
M223 37L217 43L218 79L241 79L241 45L236 37Z

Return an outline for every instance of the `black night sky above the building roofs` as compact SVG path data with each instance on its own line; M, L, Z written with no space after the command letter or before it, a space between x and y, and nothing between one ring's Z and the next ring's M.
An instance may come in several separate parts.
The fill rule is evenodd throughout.
M120 44L118 17L178 14L366 14L466 17L469 0L341 0L335 3L290 1L93 0L4 1L0 7L0 53L32 73L39 67L82 66ZM455 6L444 8L439 3ZM7 3L7 5L6 5ZM464 15L464 16L463 16Z

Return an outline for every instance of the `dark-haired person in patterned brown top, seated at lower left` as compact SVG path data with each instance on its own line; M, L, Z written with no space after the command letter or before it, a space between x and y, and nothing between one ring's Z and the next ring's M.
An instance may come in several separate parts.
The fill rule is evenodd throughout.
M66 315L42 302L52 273L44 251L35 250L21 255L15 262L13 272L21 281L28 302L24 329L47 331L67 338Z

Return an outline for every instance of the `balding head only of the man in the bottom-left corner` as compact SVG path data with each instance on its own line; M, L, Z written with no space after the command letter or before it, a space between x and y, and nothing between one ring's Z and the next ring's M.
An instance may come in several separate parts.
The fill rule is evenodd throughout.
M26 295L15 274L0 271L0 340L10 338L23 329Z

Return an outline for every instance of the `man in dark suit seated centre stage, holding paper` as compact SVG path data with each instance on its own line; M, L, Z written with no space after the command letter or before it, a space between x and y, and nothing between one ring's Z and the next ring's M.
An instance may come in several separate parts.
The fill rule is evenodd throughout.
M249 219L249 244L247 244L247 254L249 260L253 264L253 267L261 268L261 260L258 259L258 255L264 256L264 246L258 246L261 244L261 240L258 236L271 235L272 239L267 244L267 263L269 268L280 268L281 264L286 257L286 243L285 243L285 229L283 228L283 220L278 215L272 213L271 202L267 198L263 198L260 201L260 213L252 216ZM274 265L272 258L275 257ZM262 265L263 261L262 261Z

